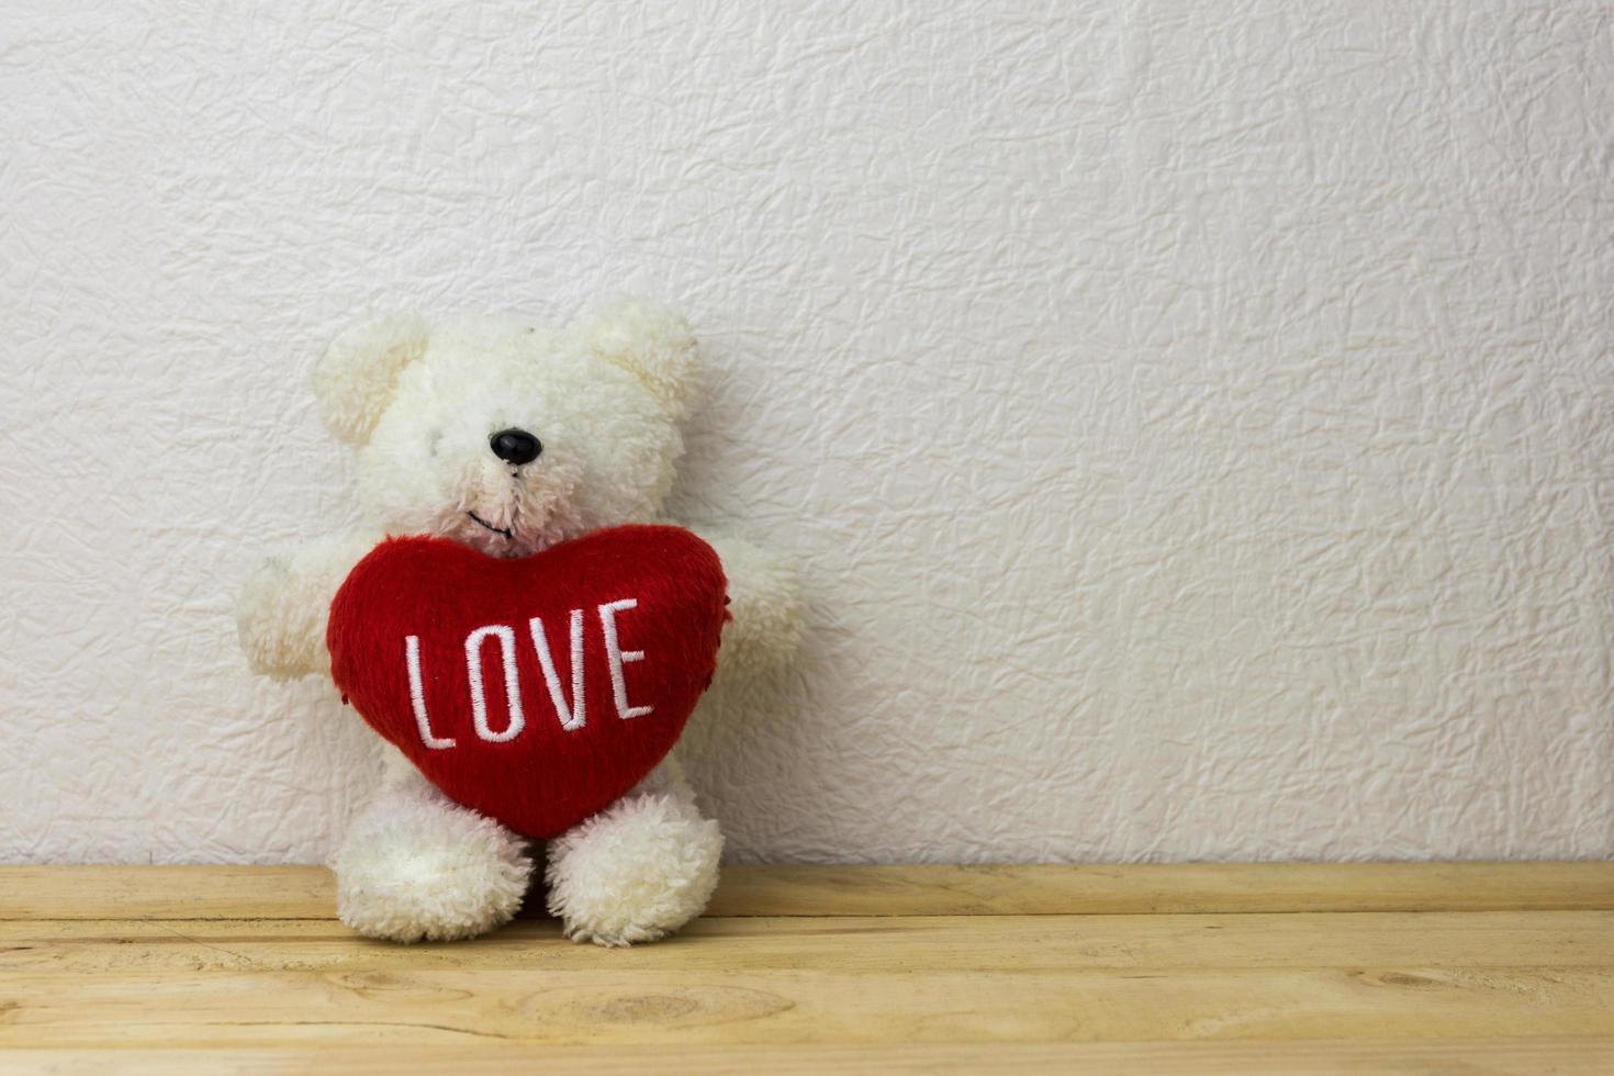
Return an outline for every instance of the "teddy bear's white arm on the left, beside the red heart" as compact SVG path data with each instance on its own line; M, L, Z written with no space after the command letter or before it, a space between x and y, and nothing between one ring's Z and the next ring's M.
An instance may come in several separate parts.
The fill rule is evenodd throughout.
M379 532L339 534L265 563L236 602L240 649L253 673L297 679L331 671L324 624L331 598Z

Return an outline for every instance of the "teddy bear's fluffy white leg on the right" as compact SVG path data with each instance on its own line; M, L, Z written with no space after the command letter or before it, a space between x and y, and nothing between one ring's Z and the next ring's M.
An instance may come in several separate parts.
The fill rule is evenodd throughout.
M721 853L723 834L700 816L683 768L668 758L550 842L549 911L578 942L654 942L700 915Z

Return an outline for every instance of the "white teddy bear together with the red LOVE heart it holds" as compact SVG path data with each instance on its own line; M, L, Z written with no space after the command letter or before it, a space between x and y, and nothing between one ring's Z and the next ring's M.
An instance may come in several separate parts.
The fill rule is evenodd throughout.
M801 594L784 558L738 536L715 532L705 547L646 529L667 521L697 365L689 324L634 300L563 326L389 316L349 329L320 358L320 411L358 452L363 528L268 560L242 589L237 626L255 669L331 674L389 740L387 778L331 863L337 910L355 931L408 942L499 926L533 874L528 840L544 834L555 834L549 897L568 937L633 945L705 907L718 824L671 755L628 786L676 739L718 634L718 678L744 682L788 660ZM542 450L507 458L500 431ZM394 540L378 548L384 536ZM618 605L629 597L633 608ZM689 607L681 628L663 597ZM620 703L602 605L618 626ZM481 640L479 678L466 637ZM515 732L505 647L520 684ZM668 666L676 684L660 682Z

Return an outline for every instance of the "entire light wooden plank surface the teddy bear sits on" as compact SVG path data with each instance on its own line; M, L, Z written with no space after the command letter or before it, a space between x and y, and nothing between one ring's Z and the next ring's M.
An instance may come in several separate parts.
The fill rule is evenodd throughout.
M0 868L0 1071L1614 1073L1614 865L730 868L629 950L320 868Z

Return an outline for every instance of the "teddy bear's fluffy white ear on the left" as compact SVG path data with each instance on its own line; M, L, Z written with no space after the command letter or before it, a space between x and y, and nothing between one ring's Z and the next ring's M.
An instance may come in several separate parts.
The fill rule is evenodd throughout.
M362 445L392 402L399 374L426 352L431 326L415 315L357 324L331 342L313 368L320 416L332 434Z

